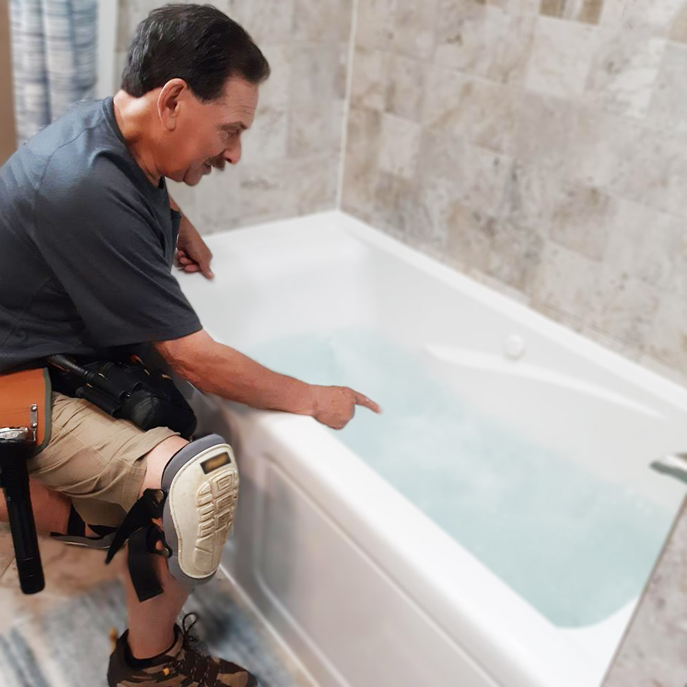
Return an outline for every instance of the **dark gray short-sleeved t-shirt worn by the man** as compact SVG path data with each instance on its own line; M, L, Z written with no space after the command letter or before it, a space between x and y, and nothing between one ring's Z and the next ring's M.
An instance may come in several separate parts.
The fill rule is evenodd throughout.
M0 371L201 328L171 274L180 215L112 98L76 104L0 168Z

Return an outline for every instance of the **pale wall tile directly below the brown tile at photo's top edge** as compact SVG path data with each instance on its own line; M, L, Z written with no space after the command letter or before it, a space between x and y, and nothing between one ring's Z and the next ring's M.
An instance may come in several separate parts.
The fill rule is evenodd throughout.
M528 65L528 89L578 98L598 46L596 27L561 19L541 17L534 30Z

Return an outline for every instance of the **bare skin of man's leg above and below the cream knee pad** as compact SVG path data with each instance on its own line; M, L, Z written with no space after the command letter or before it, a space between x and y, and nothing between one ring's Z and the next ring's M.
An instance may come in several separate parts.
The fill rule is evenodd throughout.
M146 476L141 494L146 489L160 488L166 464L185 444L188 444L185 439L172 436L157 444L147 454ZM124 573L128 644L135 658L149 658L169 649L174 642L174 622L188 596L185 588L170 575L167 562L162 556L156 556L156 565L164 592L148 601L139 602L128 570Z

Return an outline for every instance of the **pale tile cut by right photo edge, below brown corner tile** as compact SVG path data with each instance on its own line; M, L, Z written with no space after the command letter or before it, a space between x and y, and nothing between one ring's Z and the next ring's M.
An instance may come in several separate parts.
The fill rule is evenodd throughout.
M686 75L687 45L668 43L649 108L649 117L659 126L687 131Z

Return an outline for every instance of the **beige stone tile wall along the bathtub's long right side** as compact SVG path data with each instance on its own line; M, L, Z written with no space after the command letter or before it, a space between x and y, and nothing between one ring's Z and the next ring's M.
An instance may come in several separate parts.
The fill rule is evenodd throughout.
M343 210L687 383L687 3L360 0Z

